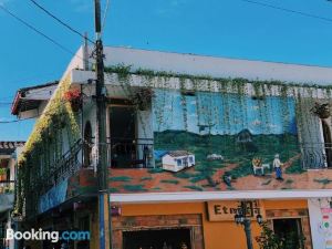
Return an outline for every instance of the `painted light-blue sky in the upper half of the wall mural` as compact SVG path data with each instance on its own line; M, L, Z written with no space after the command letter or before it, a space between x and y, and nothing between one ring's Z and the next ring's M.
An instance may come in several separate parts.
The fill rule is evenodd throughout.
M234 135L248 128L252 134L297 133L295 103L291 97L250 96L157 90L154 100L154 131L187 131L200 135Z

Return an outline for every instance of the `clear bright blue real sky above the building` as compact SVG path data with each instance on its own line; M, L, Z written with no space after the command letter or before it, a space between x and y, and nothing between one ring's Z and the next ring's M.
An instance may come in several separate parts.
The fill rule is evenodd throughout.
M94 39L93 0L35 1ZM105 12L106 2L105 45L332 68L332 2L326 0L110 0ZM66 50L82 44L30 0L0 4ZM0 33L0 141L24 141L33 121L1 123L15 120L10 103L17 90L59 80L72 54L1 9Z

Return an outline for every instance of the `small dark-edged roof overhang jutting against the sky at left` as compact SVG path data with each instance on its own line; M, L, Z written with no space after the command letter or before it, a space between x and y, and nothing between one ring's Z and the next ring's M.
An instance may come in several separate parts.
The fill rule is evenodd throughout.
M45 91L48 87L56 86L58 84L59 84L59 81L54 81L54 82L49 82L45 84L19 89L14 96L14 101L11 105L11 114L18 115L19 112L24 112L24 111L37 108L42 101L40 97L41 96L40 93L42 91ZM38 97L33 98L33 96L32 96L32 97L25 98L27 93L29 93L30 91L34 91L37 94L35 96L38 96Z

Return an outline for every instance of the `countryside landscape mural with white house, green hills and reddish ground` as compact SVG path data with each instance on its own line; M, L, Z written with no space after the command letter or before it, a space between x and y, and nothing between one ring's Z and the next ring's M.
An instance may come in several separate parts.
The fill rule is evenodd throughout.
M155 168L113 169L113 193L330 184L302 170L294 98L157 90L153 114Z

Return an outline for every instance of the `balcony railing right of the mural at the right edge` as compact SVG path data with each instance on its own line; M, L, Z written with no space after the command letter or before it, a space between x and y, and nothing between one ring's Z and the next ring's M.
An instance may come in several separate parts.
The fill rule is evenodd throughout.
M332 168L331 143L305 143L300 146L304 169Z

